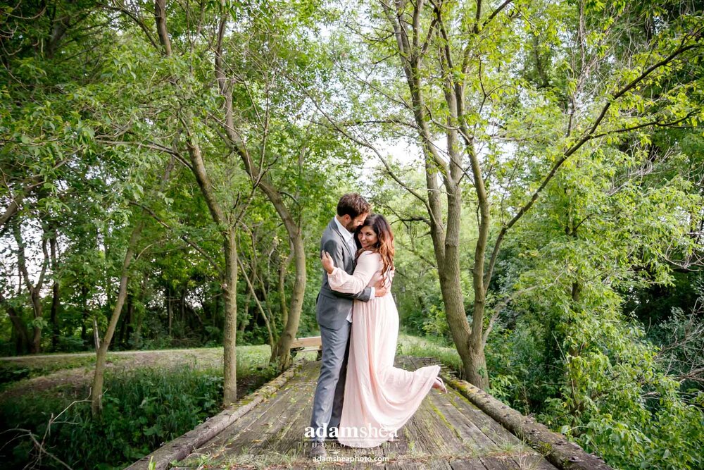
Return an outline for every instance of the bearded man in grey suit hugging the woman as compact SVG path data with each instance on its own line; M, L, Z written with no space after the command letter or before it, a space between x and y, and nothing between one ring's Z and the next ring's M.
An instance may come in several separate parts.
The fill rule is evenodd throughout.
M321 252L328 252L335 266L348 274L355 268L357 247L354 231L369 214L369 203L359 194L345 194L337 203L337 216L327 225L320 240ZM325 457L325 438L336 430L342 414L345 376L349 354L351 313L354 299L368 302L372 297L386 295L386 287L379 284L366 287L356 294L342 294L330 289L327 273L322 273L322 287L318 294L316 318L322 337L322 361L318 387L313 399L313 416L310 426L315 431L310 457Z

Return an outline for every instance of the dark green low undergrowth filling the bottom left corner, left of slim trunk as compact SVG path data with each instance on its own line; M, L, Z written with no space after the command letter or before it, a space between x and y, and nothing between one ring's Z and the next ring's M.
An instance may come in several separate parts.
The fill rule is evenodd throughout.
M221 397L221 371L184 365L171 370L127 371L119 376L108 372L100 419L92 419L89 402L78 402L51 426L44 445L73 467L122 468L219 412ZM48 392L8 399L0 404L0 426L28 429L41 440L51 416L71 401ZM13 444L0 451L6 466L24 466L37 459L29 440ZM46 457L42 466L60 467Z

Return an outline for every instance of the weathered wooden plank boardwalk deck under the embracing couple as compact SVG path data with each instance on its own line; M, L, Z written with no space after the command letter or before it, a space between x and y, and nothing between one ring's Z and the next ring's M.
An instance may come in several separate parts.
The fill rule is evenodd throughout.
M418 359L396 365L417 369ZM307 457L303 435L310 423L320 362L310 361L267 400L237 418L174 468L385 468L385 469L555 469L519 438L456 390L431 390L393 442L372 449L326 443L327 460Z

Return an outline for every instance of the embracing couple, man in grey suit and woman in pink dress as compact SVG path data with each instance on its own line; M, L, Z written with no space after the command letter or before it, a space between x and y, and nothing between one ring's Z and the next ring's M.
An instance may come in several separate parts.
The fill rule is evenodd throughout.
M345 194L320 242L322 361L306 431L313 458L325 457L326 439L350 447L393 439L431 388L445 390L440 366L394 367L394 235L383 216L369 212L363 197Z

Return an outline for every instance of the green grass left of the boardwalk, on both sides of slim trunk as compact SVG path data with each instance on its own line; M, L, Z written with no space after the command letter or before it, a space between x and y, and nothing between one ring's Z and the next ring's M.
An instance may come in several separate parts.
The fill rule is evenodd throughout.
M108 369L101 419L92 419L89 402L82 401L87 384L7 397L0 402L0 429L30 430L48 452L74 468L122 468L220 412L222 366L214 364L222 352L202 353L208 353L205 359L199 351L168 352L168 366ZM268 345L237 348L238 395L273 378L269 356ZM75 366L75 358L66 359ZM37 462L37 447L27 433L13 431L3 438L16 438L0 449L0 461L8 468ZM37 466L62 467L47 455Z

